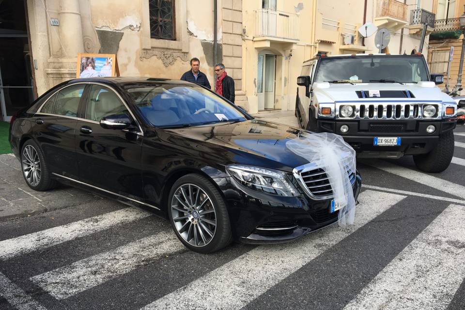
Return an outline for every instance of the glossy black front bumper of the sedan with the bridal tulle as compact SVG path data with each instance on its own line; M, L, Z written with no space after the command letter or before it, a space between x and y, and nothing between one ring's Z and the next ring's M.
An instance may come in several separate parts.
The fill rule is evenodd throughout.
M239 185L233 178L216 182L228 204L233 233L244 243L288 242L338 221L338 212L329 212L331 199L312 200L303 191L297 197L262 194ZM357 171L355 199L360 188Z

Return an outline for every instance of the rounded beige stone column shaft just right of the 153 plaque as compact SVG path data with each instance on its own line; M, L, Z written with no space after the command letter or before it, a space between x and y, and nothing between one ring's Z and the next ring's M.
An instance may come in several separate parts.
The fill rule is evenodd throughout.
M84 52L79 1L60 0L58 14L60 16L60 41L64 49L63 56L77 57L78 53Z

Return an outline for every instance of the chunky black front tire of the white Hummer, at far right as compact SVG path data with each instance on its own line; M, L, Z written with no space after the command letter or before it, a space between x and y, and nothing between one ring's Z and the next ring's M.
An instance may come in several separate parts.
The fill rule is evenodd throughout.
M454 155L454 133L450 130L439 136L439 142L427 154L413 155L413 161L423 172L442 172L449 167Z

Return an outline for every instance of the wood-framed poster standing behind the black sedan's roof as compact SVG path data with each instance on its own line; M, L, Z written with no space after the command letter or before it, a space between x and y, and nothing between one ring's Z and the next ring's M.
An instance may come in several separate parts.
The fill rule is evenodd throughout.
M119 76L115 54L78 54L76 78Z

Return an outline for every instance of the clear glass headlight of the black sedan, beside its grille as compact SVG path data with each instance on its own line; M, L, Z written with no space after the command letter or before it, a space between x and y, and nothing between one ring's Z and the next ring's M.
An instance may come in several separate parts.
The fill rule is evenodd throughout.
M285 172L255 166L230 165L228 172L243 186L279 196L297 196Z

